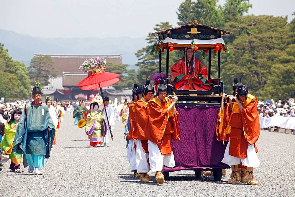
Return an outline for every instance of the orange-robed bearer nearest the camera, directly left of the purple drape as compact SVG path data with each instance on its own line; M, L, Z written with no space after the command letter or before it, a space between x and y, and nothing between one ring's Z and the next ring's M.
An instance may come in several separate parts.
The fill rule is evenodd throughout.
M178 127L178 112L175 103L178 98L173 96L172 102L166 97L167 84L163 79L157 87L157 96L148 103L148 122L145 126L145 137L148 139L150 168L155 172L156 181L164 183L163 165L173 168L174 155L171 148L171 139L180 141Z

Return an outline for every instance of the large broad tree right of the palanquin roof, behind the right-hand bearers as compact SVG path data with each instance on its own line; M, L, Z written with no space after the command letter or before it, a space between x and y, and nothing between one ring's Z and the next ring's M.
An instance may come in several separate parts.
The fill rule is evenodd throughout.
M292 62L292 57L281 59L290 41L287 18L267 15L243 16L237 22L227 23L227 26L235 35L235 40L228 43L231 53L222 58L221 77L226 84L227 92L231 92L233 76L240 76L242 83L245 83L250 92L258 98L278 97L268 94L267 88L281 88L277 84L284 81L285 75L277 75L280 71L276 69L282 69L282 63L286 62L285 58L289 63ZM276 77L273 78L272 75Z

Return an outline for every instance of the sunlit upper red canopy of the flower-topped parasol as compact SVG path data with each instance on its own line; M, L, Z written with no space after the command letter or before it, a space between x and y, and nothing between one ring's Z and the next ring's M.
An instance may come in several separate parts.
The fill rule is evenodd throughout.
M80 81L77 86L89 86L93 84L98 84L110 79L118 78L120 75L116 73L108 73L103 69L93 69L88 72L88 76ZM118 81L117 81L118 82ZM116 82L116 83L117 83Z

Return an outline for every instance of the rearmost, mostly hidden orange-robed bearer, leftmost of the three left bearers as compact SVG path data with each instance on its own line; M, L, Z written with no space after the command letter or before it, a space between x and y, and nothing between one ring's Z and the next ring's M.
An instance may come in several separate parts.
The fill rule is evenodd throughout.
M133 89L132 89L132 102L129 103L128 108L129 108L129 132L124 136L127 137L129 140L128 146L127 146L127 161L130 162L130 170L131 172L134 172L134 175L136 178L139 178L139 174L137 174L136 171L136 165L135 165L135 148L134 148L134 139L132 138L132 132L134 130L134 119L135 119L135 112L133 112L132 108L135 105L135 102L138 101L137 96L136 96L136 90L138 89L137 83L134 84ZM139 99L141 99L141 94L138 95ZM127 124L128 125L128 124ZM127 129L127 127L126 127Z

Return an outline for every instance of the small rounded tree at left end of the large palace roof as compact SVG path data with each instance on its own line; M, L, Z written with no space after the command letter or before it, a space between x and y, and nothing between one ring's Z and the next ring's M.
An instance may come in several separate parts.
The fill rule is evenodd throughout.
M42 86L48 85L49 77L56 77L57 70L52 67L53 60L49 55L36 55L28 67L30 79L38 79ZM32 85L34 85L32 80Z

